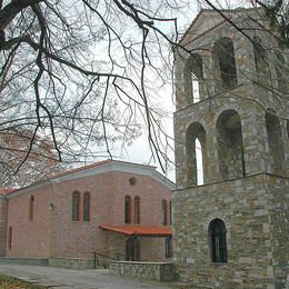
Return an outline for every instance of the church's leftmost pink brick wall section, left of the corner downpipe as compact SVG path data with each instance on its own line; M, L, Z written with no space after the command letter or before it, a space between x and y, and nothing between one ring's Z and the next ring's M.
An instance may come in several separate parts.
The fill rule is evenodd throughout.
M34 196L33 220L29 221L29 198ZM7 257L49 257L50 215L48 205L51 187L26 189L23 193L10 198L8 226L12 227L12 247L7 245ZM8 241L8 240L7 240Z

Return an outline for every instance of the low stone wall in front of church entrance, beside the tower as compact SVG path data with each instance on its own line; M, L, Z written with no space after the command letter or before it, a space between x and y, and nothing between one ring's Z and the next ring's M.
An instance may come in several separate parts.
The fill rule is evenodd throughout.
M111 275L147 280L165 282L176 280L176 269L171 262L111 261L109 271Z

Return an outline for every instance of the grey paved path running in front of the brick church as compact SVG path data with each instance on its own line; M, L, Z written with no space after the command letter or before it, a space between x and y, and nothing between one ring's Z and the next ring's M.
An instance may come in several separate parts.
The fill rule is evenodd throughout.
M71 270L54 267L0 265L0 273L56 289L165 289L170 283L110 276L106 269ZM176 286L173 286L176 288ZM178 288L178 287L177 287Z

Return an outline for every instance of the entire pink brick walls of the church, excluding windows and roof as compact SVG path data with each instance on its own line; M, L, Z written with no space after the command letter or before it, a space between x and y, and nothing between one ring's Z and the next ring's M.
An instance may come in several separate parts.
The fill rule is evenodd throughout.
M129 183L131 177L137 180L134 186ZM88 222L82 221L82 213L80 221L72 221L74 190L80 192L81 212L83 193L90 192ZM28 219L31 195L36 199L33 222ZM7 256L92 258L96 250L111 257L117 252L124 255L126 238L102 231L99 225L124 223L126 195L131 196L132 200L134 196L140 197L140 225L161 226L161 200L167 199L169 203L170 190L153 178L140 175L113 171L53 181L52 187L30 189L10 198L8 228L13 228L13 241ZM48 209L49 203L53 203L52 210ZM165 260L163 238L157 241L143 239L141 247L142 242L146 243L141 248L141 258ZM144 250L150 251L150 257Z

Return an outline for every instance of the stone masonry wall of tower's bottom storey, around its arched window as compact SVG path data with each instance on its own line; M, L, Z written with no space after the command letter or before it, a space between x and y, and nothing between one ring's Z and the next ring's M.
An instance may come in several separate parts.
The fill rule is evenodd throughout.
M179 278L200 288L285 288L289 229L280 198L288 196L280 186L288 185L288 179L260 173L176 191ZM210 259L208 227L216 218L226 223L228 263Z

